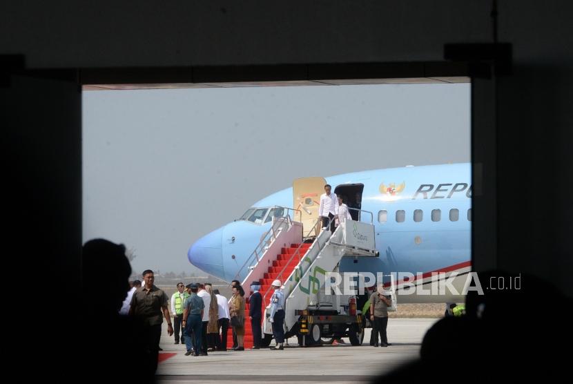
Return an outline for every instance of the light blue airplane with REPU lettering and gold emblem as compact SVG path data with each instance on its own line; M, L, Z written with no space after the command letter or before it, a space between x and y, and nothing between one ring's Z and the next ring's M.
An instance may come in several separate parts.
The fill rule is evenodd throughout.
M344 256L338 271L411 273L415 277L394 282L400 303L460 303L465 297L451 292L414 290L454 273L455 286L463 285L471 271L472 185L471 164L442 164L378 169L318 178L319 187L283 189L258 202L240 217L197 240L188 260L202 271L231 281L253 249L271 228L273 216L296 204L302 213L318 209L324 184L344 196L353 220L372 221L379 257ZM312 179L312 178L309 178ZM301 184L302 183L302 184ZM316 182L314 183L316 184ZM302 185L302 189L300 189ZM293 195L294 193L294 195ZM298 200L296 196L298 193ZM302 198L301 198L302 197ZM316 212L316 211L315 211ZM439 275L438 273L445 273ZM244 276L241 276L244 278Z

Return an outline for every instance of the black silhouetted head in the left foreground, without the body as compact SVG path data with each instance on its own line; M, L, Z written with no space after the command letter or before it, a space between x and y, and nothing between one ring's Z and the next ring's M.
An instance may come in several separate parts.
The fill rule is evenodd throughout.
M124 244L104 239L90 240L81 250L84 289L97 291L97 303L86 305L96 316L117 314L130 289L131 267Z

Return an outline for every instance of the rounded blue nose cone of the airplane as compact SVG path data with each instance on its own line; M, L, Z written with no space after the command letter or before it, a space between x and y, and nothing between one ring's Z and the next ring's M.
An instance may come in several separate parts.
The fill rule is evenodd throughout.
M215 229L195 242L187 257L191 264L213 276L221 276L223 271L223 228Z

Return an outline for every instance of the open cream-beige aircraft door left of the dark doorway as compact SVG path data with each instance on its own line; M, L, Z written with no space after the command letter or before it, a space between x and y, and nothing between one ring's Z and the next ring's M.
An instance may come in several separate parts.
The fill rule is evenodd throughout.
M302 236L308 236L313 225L315 231L311 236L318 236L320 231L320 222L317 222L318 207L325 184L327 180L324 180L324 177L303 177L293 182L293 207L301 211Z

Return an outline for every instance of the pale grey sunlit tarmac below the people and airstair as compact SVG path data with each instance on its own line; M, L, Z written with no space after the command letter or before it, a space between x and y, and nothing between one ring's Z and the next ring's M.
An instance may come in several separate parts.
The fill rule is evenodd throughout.
M424 334L437 320L390 319L389 347L370 346L371 329L366 329L364 343L356 347L350 345L348 338L342 339L346 344L299 347L294 337L289 338L284 351L264 348L209 352L208 356L196 357L184 356L184 345L173 344L173 336L167 335L164 323L157 383L367 383L374 376L417 358ZM274 344L273 340L271 346Z

